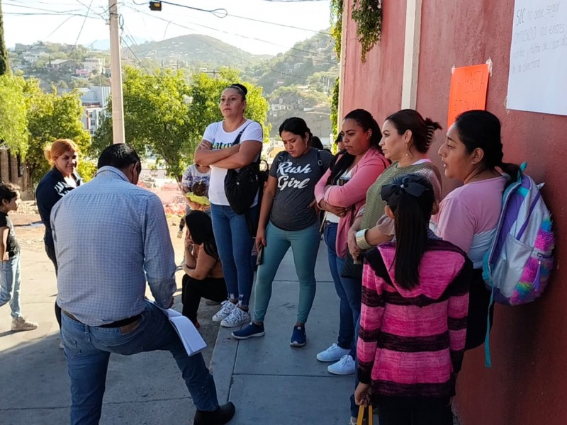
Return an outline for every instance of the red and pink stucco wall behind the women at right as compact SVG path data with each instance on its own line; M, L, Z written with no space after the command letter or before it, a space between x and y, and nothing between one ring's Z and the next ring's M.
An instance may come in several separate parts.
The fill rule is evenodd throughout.
M345 1L349 8L352 0ZM360 64L355 24L347 27L344 106L369 108L378 120L400 106L405 2L384 0L383 38ZM466 354L456 399L463 425L567 424L567 196L563 166L567 117L507 111L507 79L514 0L424 0L417 110L447 125L451 67L493 61L487 109L503 124L505 161L529 163L528 173L546 181L544 196L554 213L556 270L537 302L496 306L491 334L493 368L483 348ZM558 70L557 72L560 72ZM561 71L564 72L564 71ZM567 101L567 99L566 99ZM438 136L437 146L444 137ZM430 157L437 161L436 146ZM444 181L445 192L455 186Z

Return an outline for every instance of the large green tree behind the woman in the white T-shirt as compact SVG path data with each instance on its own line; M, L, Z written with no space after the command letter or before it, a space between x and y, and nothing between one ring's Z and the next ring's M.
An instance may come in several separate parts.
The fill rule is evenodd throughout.
M126 142L141 157L156 154L167 173L176 179L193 162L193 152L206 126L222 120L218 99L223 89L238 81L234 70L223 69L219 78L198 74L188 84L182 72L171 69L151 74L125 67L123 79ZM247 116L265 123L268 103L262 88L248 85ZM91 153L98 155L112 143L112 106L96 131ZM267 135L269 129L264 129Z

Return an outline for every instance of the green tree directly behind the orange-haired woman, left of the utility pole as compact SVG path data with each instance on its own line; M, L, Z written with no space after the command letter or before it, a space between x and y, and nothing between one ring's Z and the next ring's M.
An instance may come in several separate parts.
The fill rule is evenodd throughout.
M77 143L83 157L89 150L91 137L81 122L84 110L76 91L60 96L53 87L51 93L45 93L35 79L26 81L24 91L27 96L29 130L26 166L30 180L37 183L50 167L43 156L46 145L57 139L71 139Z

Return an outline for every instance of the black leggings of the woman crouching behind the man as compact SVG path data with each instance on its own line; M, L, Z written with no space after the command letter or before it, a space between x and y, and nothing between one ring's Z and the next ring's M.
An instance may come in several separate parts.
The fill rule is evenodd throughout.
M181 280L181 302L183 302L183 315L191 322L197 321L197 310L201 297L207 300L223 302L227 299L226 283L224 278L193 279L184 275Z

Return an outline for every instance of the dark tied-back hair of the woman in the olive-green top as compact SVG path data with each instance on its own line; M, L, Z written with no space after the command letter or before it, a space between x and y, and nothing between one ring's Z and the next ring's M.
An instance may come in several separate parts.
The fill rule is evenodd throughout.
M422 115L415 111L415 109L402 109L393 113L386 121L390 121L398 135L403 135L406 131L412 132L413 146L417 152L427 154L430 149L431 141L435 130L442 130L439 123L433 121L431 118L423 118Z

